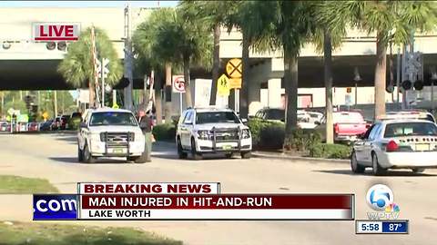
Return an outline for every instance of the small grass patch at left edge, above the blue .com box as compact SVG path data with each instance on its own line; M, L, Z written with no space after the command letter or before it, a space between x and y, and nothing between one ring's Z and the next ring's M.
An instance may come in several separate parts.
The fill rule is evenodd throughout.
M45 179L0 175L1 194L57 193L55 186ZM0 240L1 241L1 240Z

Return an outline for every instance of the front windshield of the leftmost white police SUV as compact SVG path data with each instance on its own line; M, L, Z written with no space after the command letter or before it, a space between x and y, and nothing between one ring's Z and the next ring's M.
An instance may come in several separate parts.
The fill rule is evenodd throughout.
M90 126L137 126L137 120L132 113L93 113Z

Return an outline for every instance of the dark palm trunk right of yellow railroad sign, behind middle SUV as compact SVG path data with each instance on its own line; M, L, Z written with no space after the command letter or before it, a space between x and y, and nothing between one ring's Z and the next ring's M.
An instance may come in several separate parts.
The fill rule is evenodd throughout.
M241 53L243 76L239 93L239 116L248 118L249 114L249 40L243 34L243 49Z

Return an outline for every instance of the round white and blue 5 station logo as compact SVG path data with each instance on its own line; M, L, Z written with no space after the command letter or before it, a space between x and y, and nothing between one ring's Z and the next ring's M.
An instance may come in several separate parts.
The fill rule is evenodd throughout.
M366 201L375 211L384 211L393 203L393 191L384 184L375 184L367 191Z

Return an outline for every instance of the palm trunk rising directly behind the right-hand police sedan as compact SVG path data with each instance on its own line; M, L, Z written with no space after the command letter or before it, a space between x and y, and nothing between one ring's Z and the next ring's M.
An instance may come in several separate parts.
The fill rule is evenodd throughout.
M386 79L386 53L387 44L378 34L376 41L376 67L375 67L375 119L385 113L385 79Z

